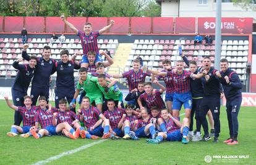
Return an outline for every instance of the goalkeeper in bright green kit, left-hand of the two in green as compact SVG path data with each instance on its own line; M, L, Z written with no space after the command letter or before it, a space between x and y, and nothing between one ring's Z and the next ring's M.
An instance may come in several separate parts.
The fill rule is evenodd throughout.
M100 89L96 85L96 82L98 82L98 78L92 77L92 75L88 75L87 69L85 67L81 67L79 69L79 74L80 79L83 81L83 84L81 85L79 82L77 82L77 90L75 90L75 95L71 101L71 104L73 105L73 107L75 106L75 100L79 95L79 90L83 87L83 90L85 90L86 92L86 96L90 98L90 104L95 101L96 107L100 111L102 111L103 98Z

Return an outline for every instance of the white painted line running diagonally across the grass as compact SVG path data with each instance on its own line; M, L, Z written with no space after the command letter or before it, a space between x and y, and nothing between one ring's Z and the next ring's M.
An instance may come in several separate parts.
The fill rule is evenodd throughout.
M68 154L73 154L73 153L77 153L78 151L81 151L81 150L85 150L86 148L89 148L90 146L94 146L94 145L97 145L99 143L103 143L105 142L106 140L99 140L99 141L96 141L96 142L93 142L93 143L89 143L87 145L83 145L83 146L80 146L79 148L75 148L74 150L69 150L69 151L66 151L64 153L61 153L61 154L58 154L56 156L53 156L51 158L48 158L48 159L45 159L43 161L38 161L37 163L35 164L32 164L32 165L41 165L41 164L46 164L46 163L50 163L51 161L54 161L54 160L57 160L63 156L66 156Z

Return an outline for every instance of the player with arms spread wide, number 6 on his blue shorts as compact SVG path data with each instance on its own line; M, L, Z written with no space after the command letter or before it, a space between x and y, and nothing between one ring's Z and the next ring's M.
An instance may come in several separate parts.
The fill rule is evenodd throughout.
M185 117L190 119L190 112L192 108L192 95L190 92L190 77L201 78L204 73L193 74L187 70L184 70L183 61L176 61L176 70L171 72L158 72L150 70L155 75L167 75L172 77L175 82L175 93L173 96L173 116L179 117L179 111L181 110L182 104L184 104Z

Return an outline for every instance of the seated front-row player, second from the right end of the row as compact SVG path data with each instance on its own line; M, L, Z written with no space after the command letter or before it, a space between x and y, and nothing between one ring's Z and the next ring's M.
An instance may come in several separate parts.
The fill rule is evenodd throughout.
M151 119L148 111L142 109L140 111L142 119L139 119L138 124L135 126L135 135L136 137L148 137L150 134L152 138L155 138L155 126L153 120Z

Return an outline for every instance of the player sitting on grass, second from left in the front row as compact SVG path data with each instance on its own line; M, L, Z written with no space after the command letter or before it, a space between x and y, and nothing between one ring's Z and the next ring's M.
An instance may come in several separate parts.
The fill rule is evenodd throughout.
M53 125L53 113L54 110L49 108L47 111L46 108L46 97L40 96L38 99L40 108L35 113L35 127L30 129L30 133L32 133L33 137L41 138L47 135L58 135L62 132L63 129L69 131L70 138L79 137L79 129L75 132L75 130L67 123L62 122L56 126ZM41 129L39 129L39 124L41 125ZM38 132L38 133L36 133Z

